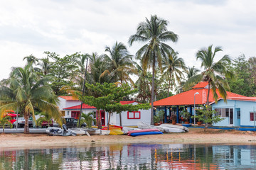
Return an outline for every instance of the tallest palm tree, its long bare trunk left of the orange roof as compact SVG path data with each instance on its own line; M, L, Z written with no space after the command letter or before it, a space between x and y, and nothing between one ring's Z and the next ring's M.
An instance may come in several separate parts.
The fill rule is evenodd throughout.
M176 42L178 35L167 30L168 22L157 16L151 16L150 21L146 18L146 22L139 23L137 33L129 38L129 44L132 45L134 41L146 42L138 52L136 57L142 60L144 66L152 67L152 86L151 86L151 125L153 125L153 113L154 113L154 76L155 67L161 68L161 62L163 57L170 54L173 49L167 45L166 41L171 40ZM147 67L144 67L147 68Z

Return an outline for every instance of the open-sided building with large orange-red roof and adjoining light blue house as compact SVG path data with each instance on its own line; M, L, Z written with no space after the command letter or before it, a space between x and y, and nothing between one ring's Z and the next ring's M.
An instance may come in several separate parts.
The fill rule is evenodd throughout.
M167 118L171 115L171 113L176 113L177 115L177 122L181 120L181 109L180 106L185 106L186 109L189 110L189 112L192 113L192 108L194 106L200 106L205 105L207 102L207 96L208 96L208 82L202 81L196 86L193 86L193 89L189 91L185 91L181 94L176 94L174 96L170 96L168 98L161 99L159 101L154 102L154 107L158 108L158 110L164 110L165 111L165 121L167 122ZM256 97L247 97L242 96L239 94L234 94L230 91L227 91L227 101L228 103L225 103L223 101L223 98L220 97L218 89L217 94L219 96L218 103L215 103L215 100L213 98L213 91L210 89L209 94L209 103L213 106L213 109L218 111L218 114L220 117L223 117L224 120L220 123L217 123L216 125L231 125L231 126L241 126L241 125L252 125L252 111L253 107L255 107L256 111ZM230 106L230 103L232 103L232 107ZM245 111L246 108L243 106L240 106L238 108L238 103L243 103L247 108L250 108L250 111ZM224 109L226 109L226 113L224 114ZM242 112L244 111L244 112ZM247 113L245 113L247 112ZM245 114L246 120L241 120L240 114ZM250 119L249 119L250 117ZM240 119L240 120L238 120ZM256 116L255 116L256 120ZM192 123L192 120L190 120L190 123Z

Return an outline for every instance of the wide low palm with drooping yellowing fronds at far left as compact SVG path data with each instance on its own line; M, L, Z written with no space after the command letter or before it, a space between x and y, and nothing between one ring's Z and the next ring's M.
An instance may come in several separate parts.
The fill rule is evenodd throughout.
M61 122L61 113L56 106L58 97L53 94L53 90L48 85L52 77L38 79L31 64L24 68L17 67L11 74L9 82L0 86L0 113L7 109L20 109L24 115L24 133L29 133L28 118L34 115L34 109L49 114L58 123Z

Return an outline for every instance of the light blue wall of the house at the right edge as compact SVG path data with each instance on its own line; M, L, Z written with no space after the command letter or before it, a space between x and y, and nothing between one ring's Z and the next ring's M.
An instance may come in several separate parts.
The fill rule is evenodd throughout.
M254 122L250 121L250 112L253 112L255 107L256 111L256 102L254 101L233 101L228 100L228 103L225 103L223 100L218 101L218 103L212 104L213 110L215 108L233 108L233 125L234 126L253 126ZM237 111L240 108L240 120L237 117ZM227 126L230 125L229 118L216 123L215 126ZM256 121L255 121L256 125Z

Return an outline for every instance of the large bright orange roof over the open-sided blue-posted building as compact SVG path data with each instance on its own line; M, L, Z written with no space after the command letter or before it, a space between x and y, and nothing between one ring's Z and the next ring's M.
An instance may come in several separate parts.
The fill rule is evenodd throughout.
M159 101L155 101L154 106L193 105L194 104L194 94L196 94L196 92L198 92L198 94L195 95L196 105L206 104L208 89L205 89L205 88L198 89L198 88L202 88L202 86L206 87L205 85L207 86L207 84L205 84L204 82L196 84L196 86L194 86L193 89L190 91L185 91L181 94L176 94L175 96L171 96L168 98L161 99ZM196 87L196 89L194 89L195 87ZM220 96L218 93L218 89L217 89L217 94L218 94L218 96ZM247 98L247 97L227 91L227 98L229 99L229 98ZM249 99L249 98L247 98L247 99ZM252 98L250 98L250 99L252 100ZM209 103L211 103L213 101L214 101L213 91L210 90ZM256 101L256 98L255 98L255 101Z

